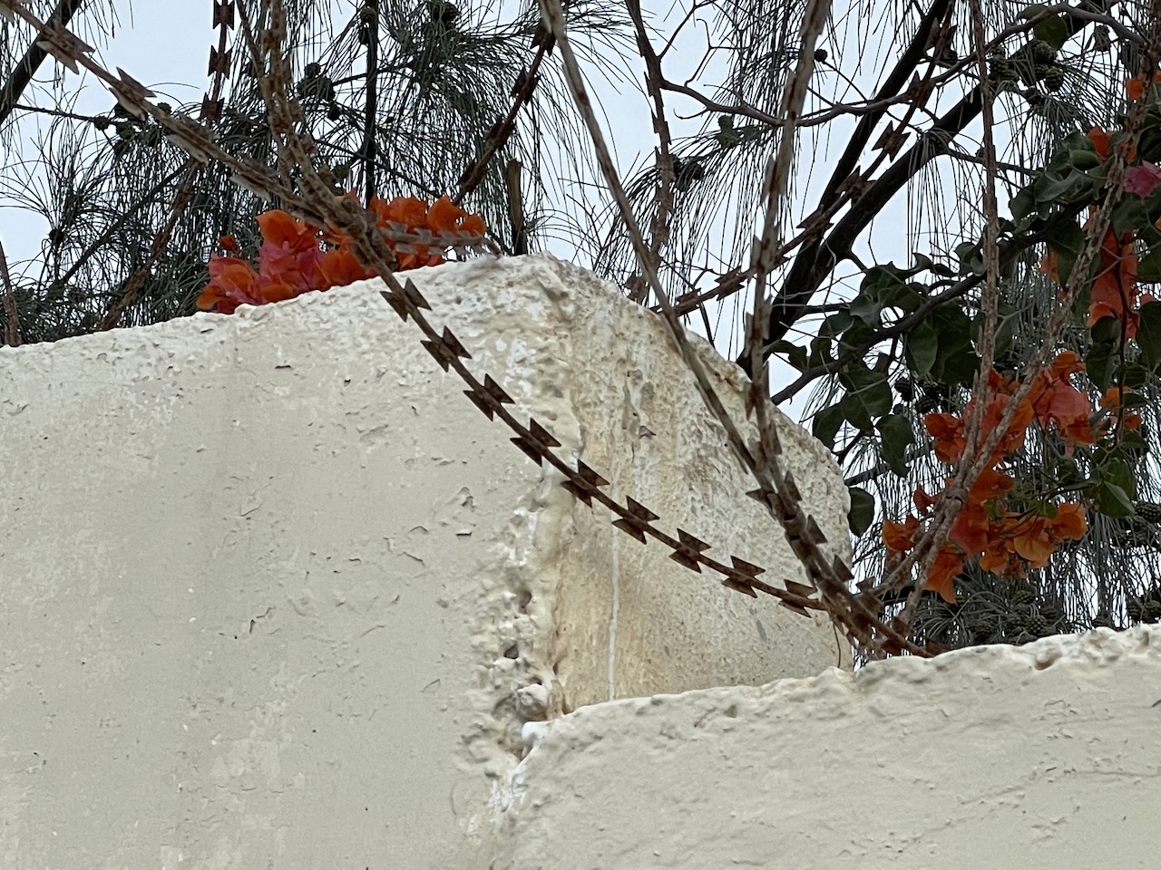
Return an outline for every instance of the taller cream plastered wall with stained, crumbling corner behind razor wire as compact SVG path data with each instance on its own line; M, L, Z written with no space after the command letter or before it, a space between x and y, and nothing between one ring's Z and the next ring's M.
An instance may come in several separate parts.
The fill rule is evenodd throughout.
M412 275L618 494L798 575L652 314L547 258ZM376 290L0 349L5 870L486 868L526 723L836 662L575 502Z

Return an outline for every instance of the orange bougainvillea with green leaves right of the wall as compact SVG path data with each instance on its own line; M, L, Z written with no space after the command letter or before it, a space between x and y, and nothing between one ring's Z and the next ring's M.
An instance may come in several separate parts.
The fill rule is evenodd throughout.
M1148 101L1148 128L1161 122L1155 110L1159 84L1161 74L1148 82L1144 78L1128 82L1131 100ZM1148 135L1141 137L1142 153L1155 154L1156 145ZM1086 358L1062 350L1031 376L1031 390L1019 400L1010 425L986 458L983 472L967 492L947 541L924 578L924 587L946 601L956 600L956 577L969 561L1001 577L1023 577L1029 570L1046 567L1063 543L1087 534L1086 506L1111 517L1135 513L1131 467L1134 451L1144 450L1145 442L1138 434L1141 419L1130 408L1145 403L1134 387L1161 365L1161 303L1140 287L1142 282L1161 281L1161 167L1141 159L1124 131L1093 128L1088 133L1075 133L1066 138L1040 176L1012 200L1014 220L1004 222L1003 229L1009 238L1018 240L1022 231L1031 237L1031 230L1055 220L1041 271L1065 285L1088 244L1094 218L1090 216L1081 226L1075 218L1066 217L1061 223L1061 215L1067 216L1072 209L1075 216L1080 208L1096 203L1115 150L1130 166L1124 194L1113 208L1075 310L1077 322L1089 332ZM979 269L980 263L973 261L976 254L976 246L961 251L968 269ZM916 357L911 354L909 360L913 370ZM1088 383L1077 387L1074 378L1082 375ZM990 372L981 421L985 433L996 429L1017 400L1018 387L1014 378ZM1091 396L1101 397L1096 406ZM974 411L973 400L962 414L924 415L924 428L940 462L980 458L965 456L965 421ZM1047 492L1034 492L1015 473L1012 461L1033 426L1061 442L1069 463L1072 479L1057 479ZM1086 451L1083 474L1072 461L1077 447ZM951 484L952 478L947 481ZM882 523L888 565L916 545L933 519L938 500L921 487L914 493L915 513L901 522Z

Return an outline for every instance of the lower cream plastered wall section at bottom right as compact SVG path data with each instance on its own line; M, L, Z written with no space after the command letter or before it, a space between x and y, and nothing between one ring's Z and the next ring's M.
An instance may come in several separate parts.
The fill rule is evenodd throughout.
M1156 625L527 728L496 870L1161 865Z

